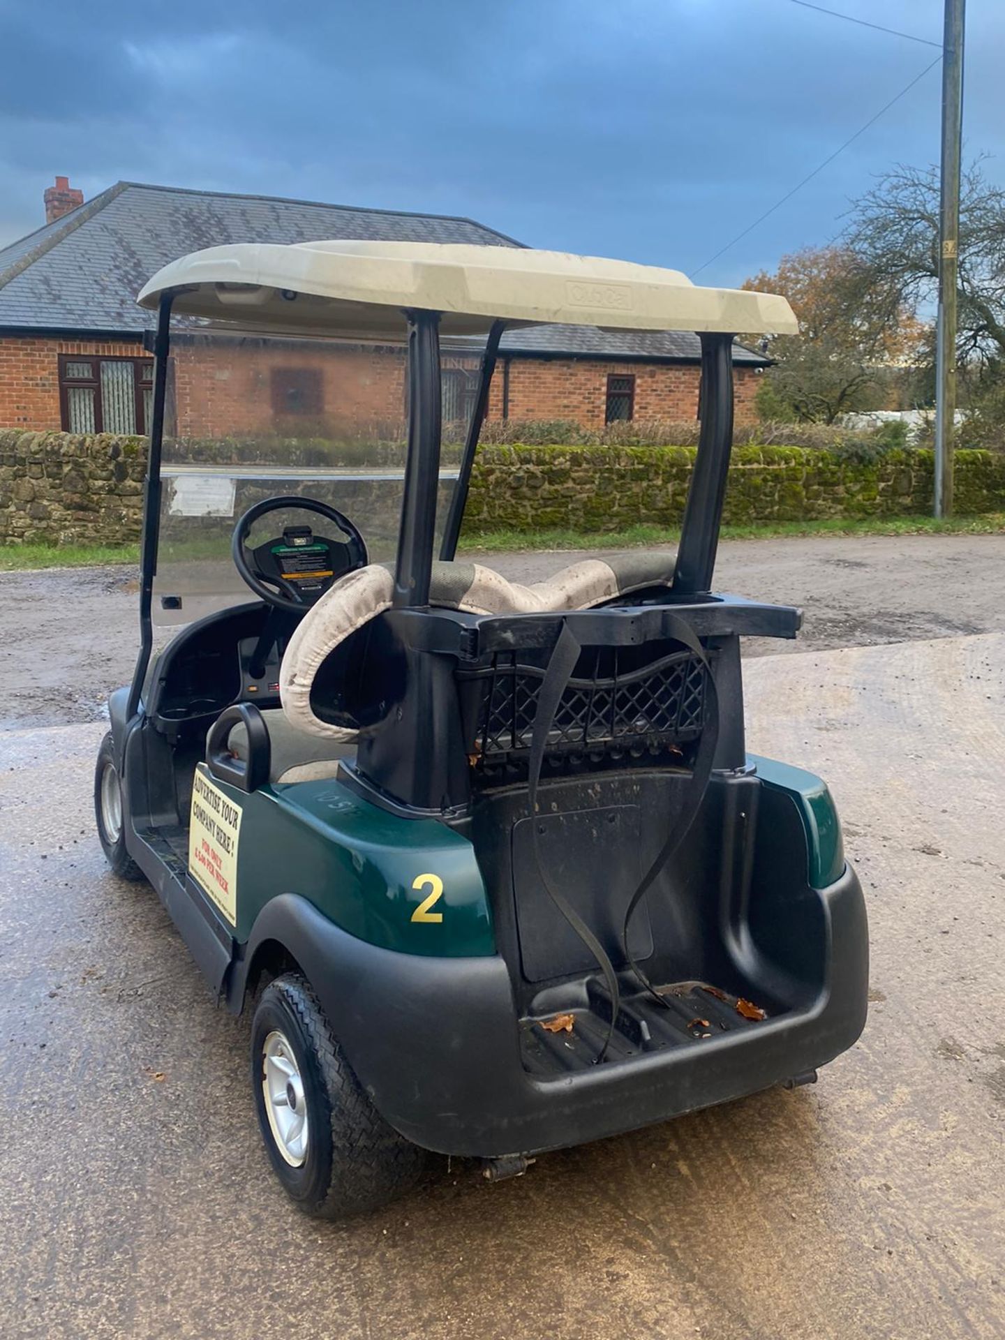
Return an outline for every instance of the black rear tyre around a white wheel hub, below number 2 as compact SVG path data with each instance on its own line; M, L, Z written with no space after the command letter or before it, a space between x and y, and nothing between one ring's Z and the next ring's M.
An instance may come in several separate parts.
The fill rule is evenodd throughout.
M299 1166L284 1158L269 1122L265 1048L276 1032L292 1048L303 1088L307 1146ZM379 1115L352 1073L318 997L299 973L277 977L261 993L252 1021L251 1071L255 1111L269 1160L306 1214L339 1219L375 1210L422 1177L426 1151L398 1135Z

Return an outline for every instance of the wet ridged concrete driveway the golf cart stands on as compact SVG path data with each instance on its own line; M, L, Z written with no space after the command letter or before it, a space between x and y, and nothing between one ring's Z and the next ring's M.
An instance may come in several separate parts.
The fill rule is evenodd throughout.
M0 1335L1001 1340L1004 662L982 632L748 663L749 745L831 780L871 918L870 1021L817 1085L344 1226L284 1199L245 1024L103 864L100 724L0 734Z

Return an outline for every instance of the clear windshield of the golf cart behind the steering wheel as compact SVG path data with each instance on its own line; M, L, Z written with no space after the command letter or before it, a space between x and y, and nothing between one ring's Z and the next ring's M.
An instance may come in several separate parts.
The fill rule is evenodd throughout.
M457 481L484 344L442 350L444 449L437 544ZM371 563L393 563L405 480L405 319L381 344L193 332L172 334L153 618L189 623L255 599L230 557L237 519L264 498L297 494L343 512ZM260 519L255 547L316 515Z

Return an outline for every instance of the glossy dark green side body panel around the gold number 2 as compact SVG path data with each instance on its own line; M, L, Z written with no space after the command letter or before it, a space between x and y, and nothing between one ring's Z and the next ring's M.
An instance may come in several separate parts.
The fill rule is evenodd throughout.
M200 765L204 768L205 765ZM434 819L399 819L336 780L261 787L245 795L212 779L241 807L237 929L277 894L299 894L350 935L382 949L446 958L496 953L474 848ZM413 914L436 892L427 919Z

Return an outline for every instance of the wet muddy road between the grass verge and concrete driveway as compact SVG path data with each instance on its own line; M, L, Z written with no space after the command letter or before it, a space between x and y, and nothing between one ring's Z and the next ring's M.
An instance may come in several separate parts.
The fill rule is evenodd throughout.
M462 559L540 582L603 552ZM750 639L746 657L1005 631L1001 535L730 540L716 583L804 607L796 642ZM137 645L135 570L0 572L0 729L98 720L110 690L129 681Z

